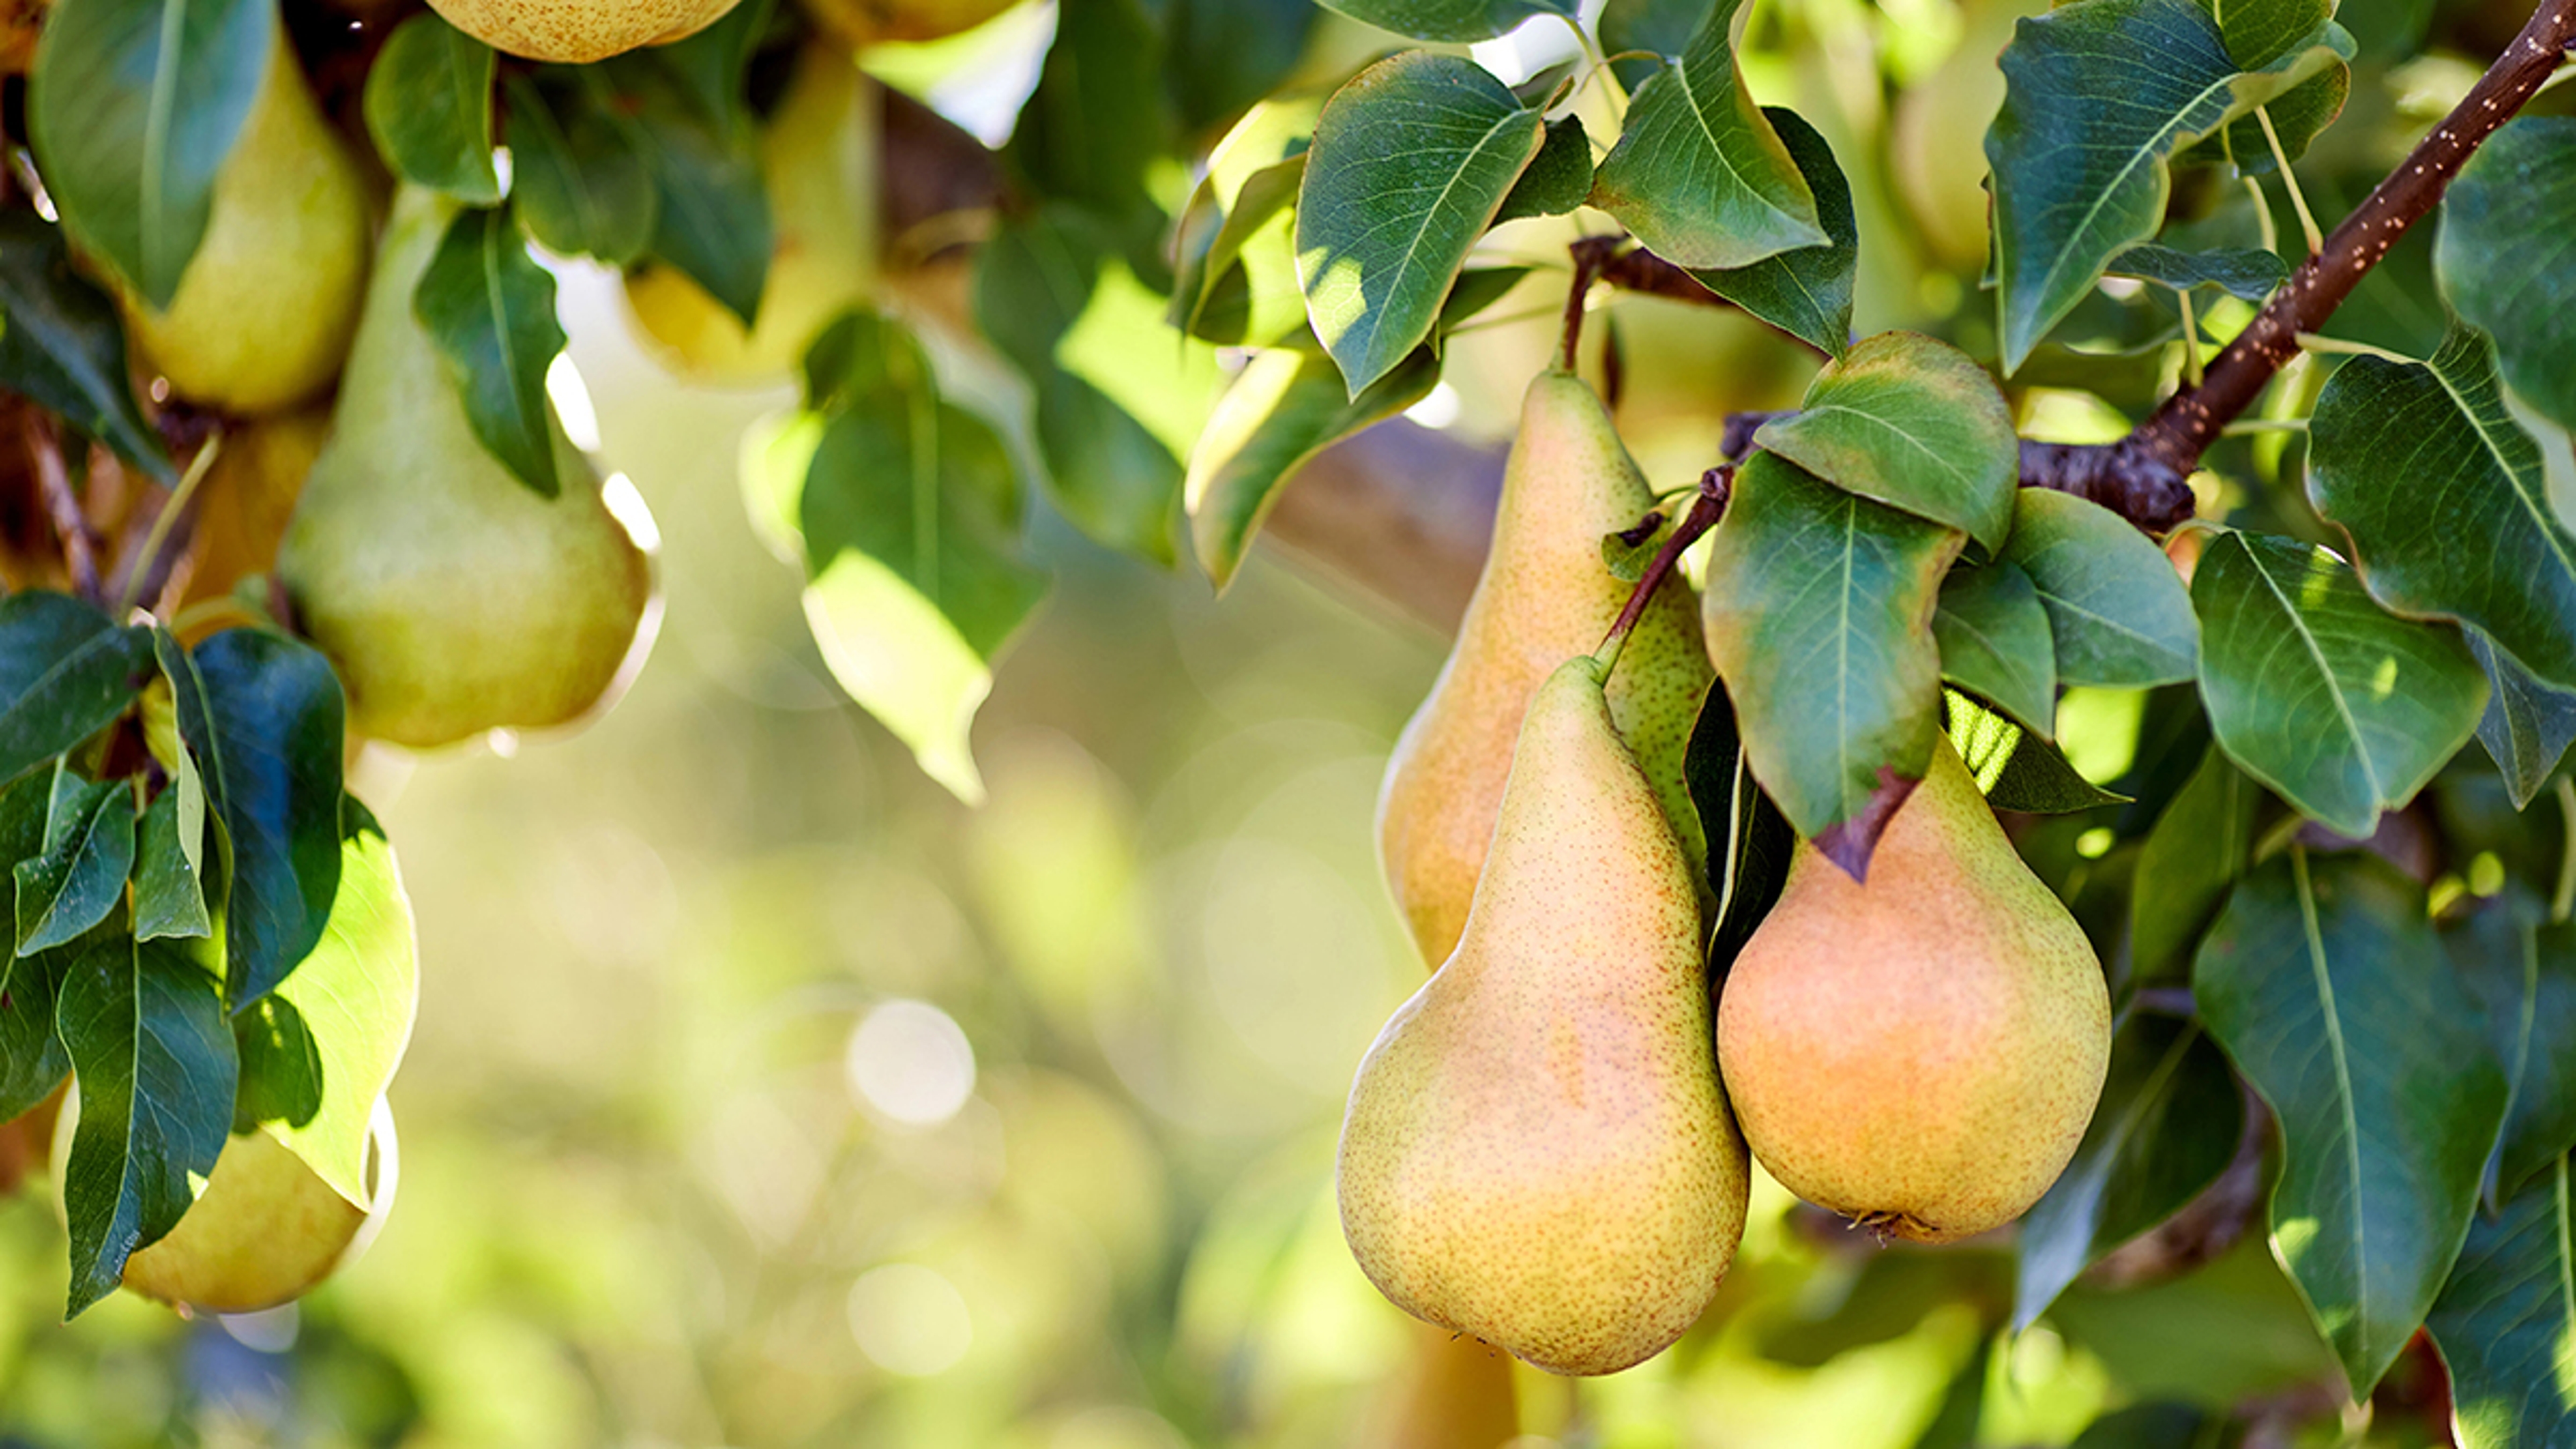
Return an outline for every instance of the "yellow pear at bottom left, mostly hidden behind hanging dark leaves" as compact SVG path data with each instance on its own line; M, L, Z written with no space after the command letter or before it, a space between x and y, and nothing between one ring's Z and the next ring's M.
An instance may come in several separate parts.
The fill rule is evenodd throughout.
M54 1124L57 1217L77 1127L75 1088ZM299 1299L374 1243L394 1209L399 1158L394 1114L381 1098L368 1129L368 1207L340 1196L265 1129L242 1132L224 1142L214 1176L178 1227L126 1258L124 1287L204 1312L260 1312Z

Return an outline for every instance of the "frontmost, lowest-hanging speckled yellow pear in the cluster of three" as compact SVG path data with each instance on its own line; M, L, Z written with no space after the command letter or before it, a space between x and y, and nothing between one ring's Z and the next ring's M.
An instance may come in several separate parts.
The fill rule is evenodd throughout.
M1682 1336L1744 1235L1700 905L1605 665L1530 699L1466 933L1342 1116L1350 1250L1396 1307L1556 1374Z

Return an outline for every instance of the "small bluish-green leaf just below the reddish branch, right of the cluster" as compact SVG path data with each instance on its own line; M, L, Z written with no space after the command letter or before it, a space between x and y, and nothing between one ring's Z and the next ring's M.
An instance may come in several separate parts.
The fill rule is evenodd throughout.
M2200 624L2182 575L2110 508L2025 487L2004 557L2040 590L2061 683L2146 688L2192 678Z

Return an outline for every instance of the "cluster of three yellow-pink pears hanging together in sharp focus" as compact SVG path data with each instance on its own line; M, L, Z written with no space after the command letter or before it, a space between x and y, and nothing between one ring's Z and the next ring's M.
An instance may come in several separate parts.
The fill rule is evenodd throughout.
M1486 572L1378 810L1435 972L1342 1122L1368 1279L1558 1374L1700 1318L1752 1158L1886 1235L1984 1232L2056 1181L2110 1060L2092 946L1945 743L1868 884L1798 848L1713 1006L1682 779L1713 673L1687 583L1602 642L1631 585L1600 539L1651 505L1592 389L1530 384Z

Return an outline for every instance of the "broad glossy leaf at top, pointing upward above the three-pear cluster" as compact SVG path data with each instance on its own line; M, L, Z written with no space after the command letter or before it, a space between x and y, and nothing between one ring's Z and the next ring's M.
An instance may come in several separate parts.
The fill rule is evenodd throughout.
M1816 193L1736 70L1741 8L1708 8L1680 59L1638 88L1592 178L1592 204L1674 266L1741 268L1832 242Z

